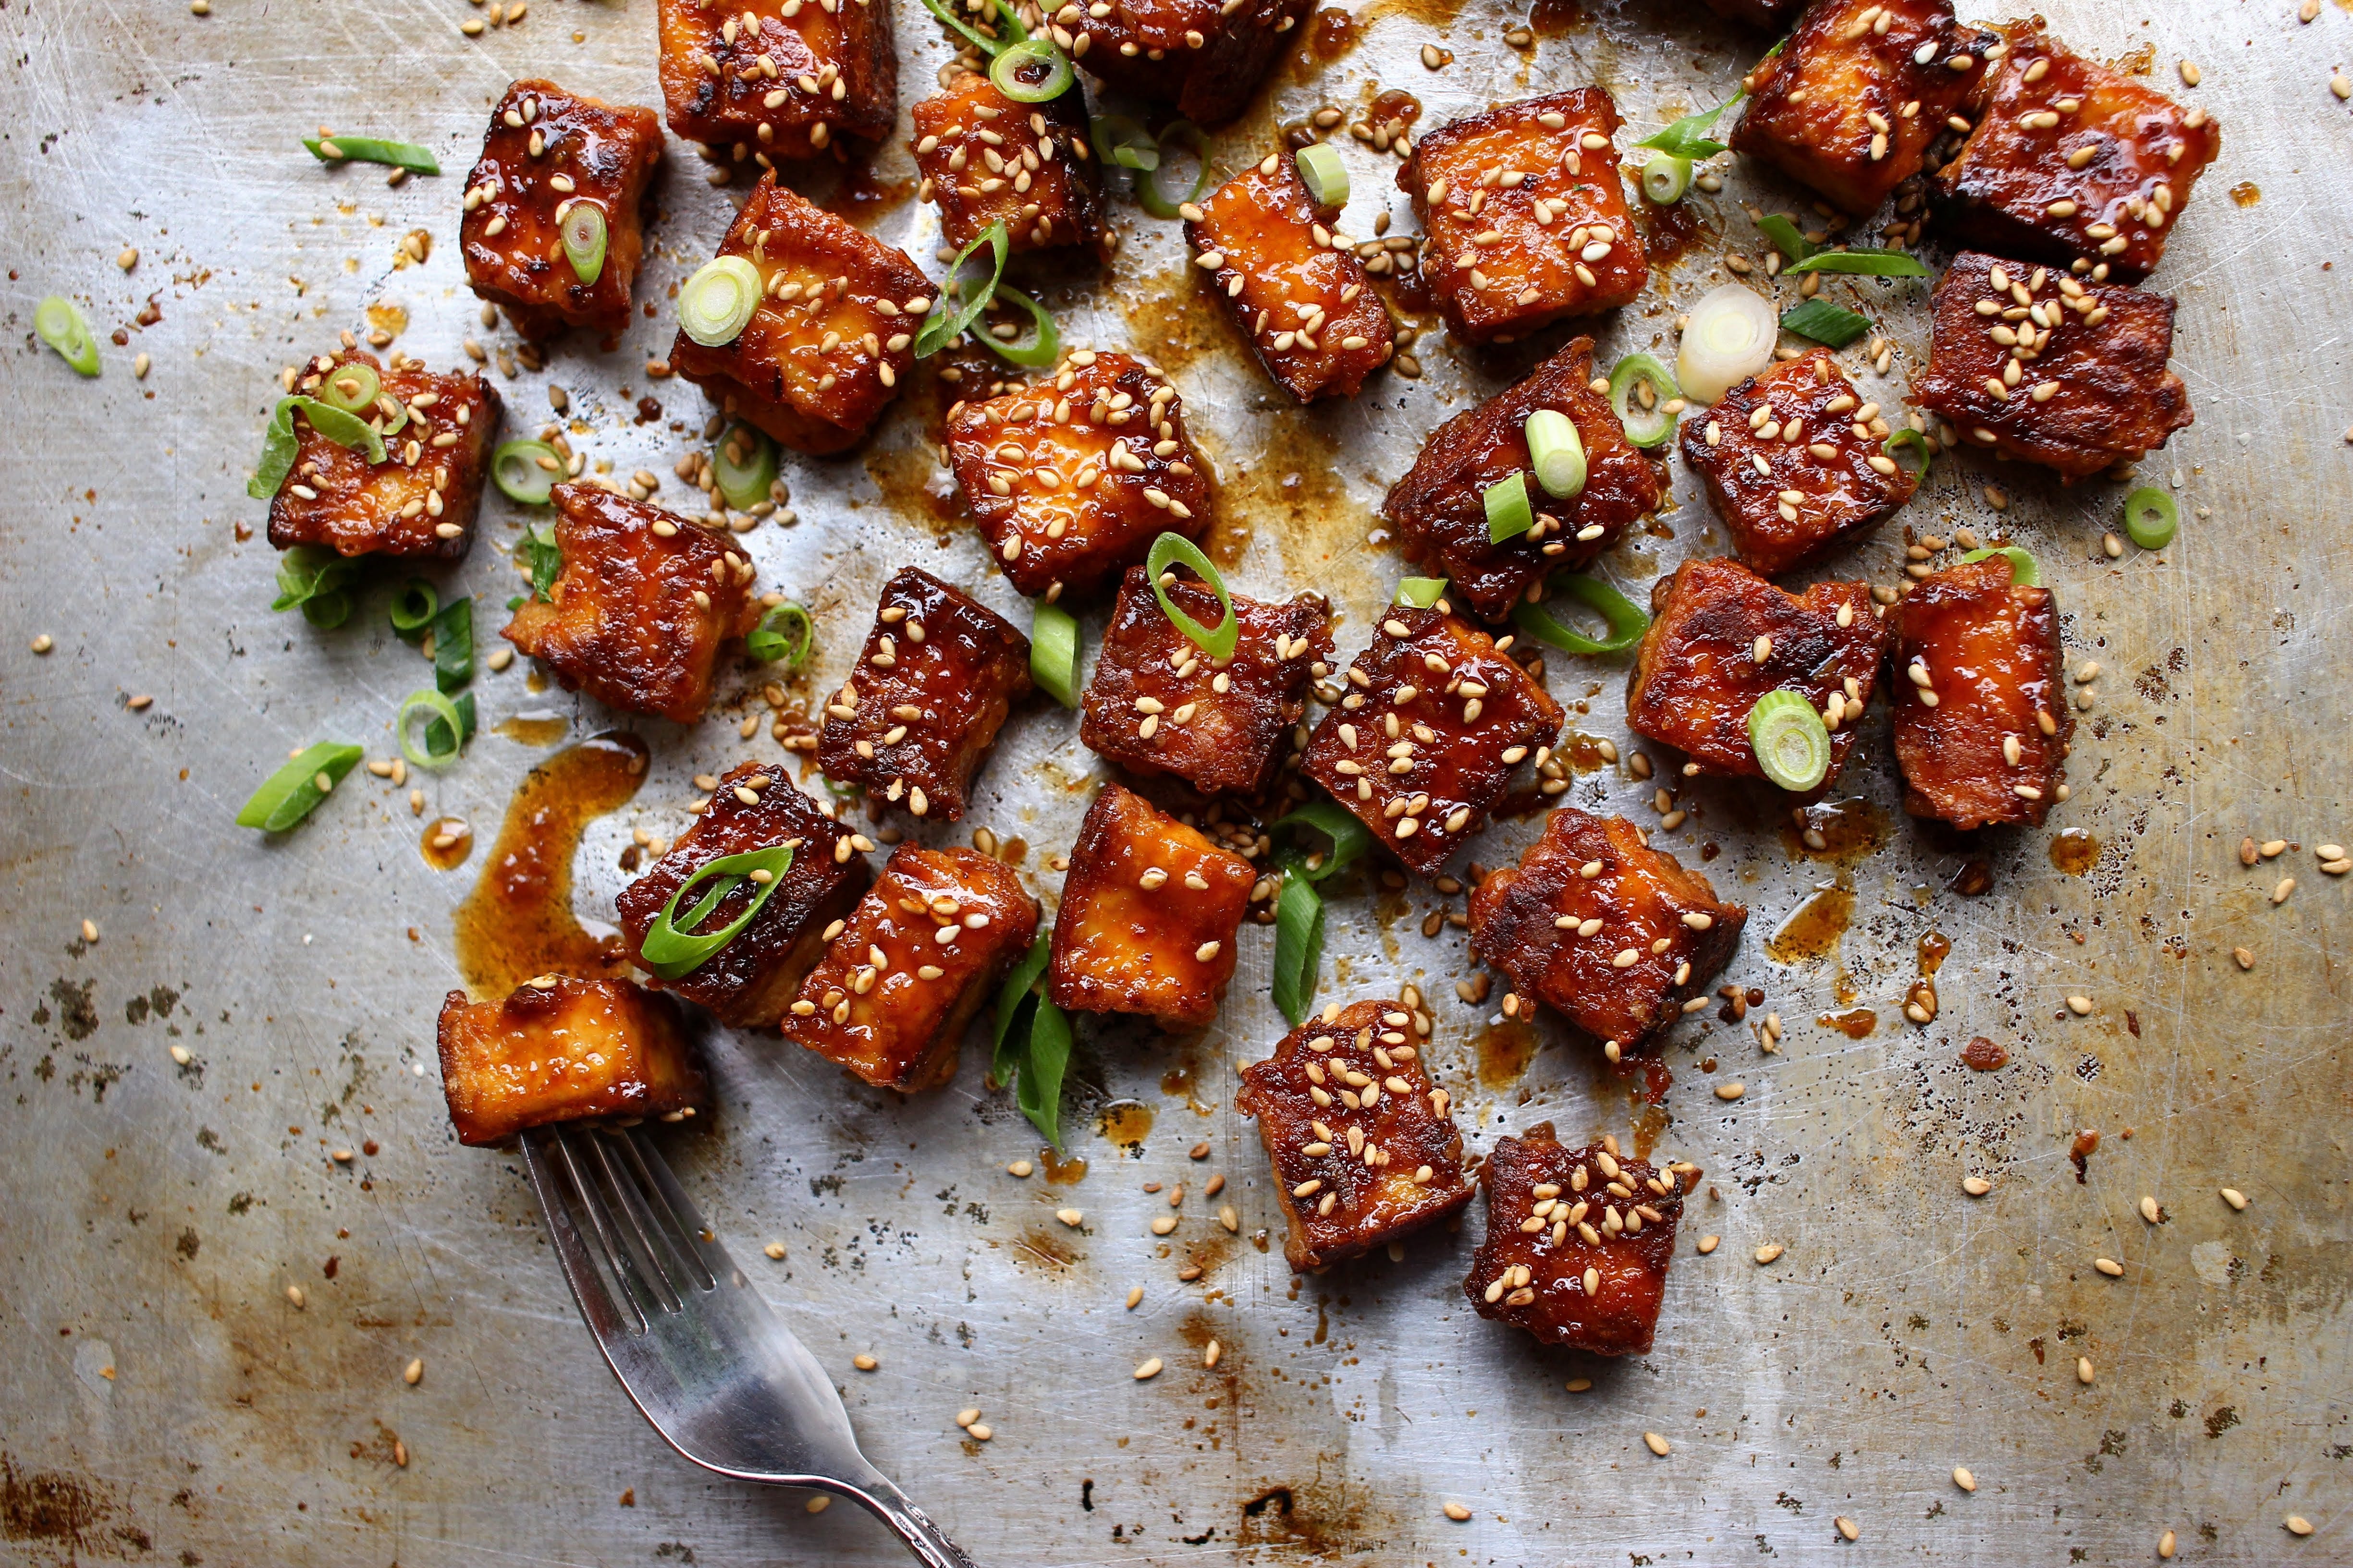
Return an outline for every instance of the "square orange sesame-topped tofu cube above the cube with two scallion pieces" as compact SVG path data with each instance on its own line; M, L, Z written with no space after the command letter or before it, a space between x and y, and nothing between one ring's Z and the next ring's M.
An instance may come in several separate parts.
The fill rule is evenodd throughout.
M1398 188L1428 244L1421 277L1471 343L1633 303L1649 282L1619 186L1617 103L1574 87L1454 120L1414 141Z

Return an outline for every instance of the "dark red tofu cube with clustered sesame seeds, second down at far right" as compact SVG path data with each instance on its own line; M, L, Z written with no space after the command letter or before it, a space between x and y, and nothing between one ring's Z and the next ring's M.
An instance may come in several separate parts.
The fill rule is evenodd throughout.
M2073 484L2191 425L2172 353L2165 294L1962 252L1937 280L1911 402L1948 418L1965 451L2042 463Z

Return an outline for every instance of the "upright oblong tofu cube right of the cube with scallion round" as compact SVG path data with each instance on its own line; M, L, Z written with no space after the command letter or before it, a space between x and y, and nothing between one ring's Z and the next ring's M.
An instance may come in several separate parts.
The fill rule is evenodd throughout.
M2040 823L2066 799L2075 731L2052 590L2012 583L2009 559L1988 555L1915 583L1889 618L1904 809L1955 827Z

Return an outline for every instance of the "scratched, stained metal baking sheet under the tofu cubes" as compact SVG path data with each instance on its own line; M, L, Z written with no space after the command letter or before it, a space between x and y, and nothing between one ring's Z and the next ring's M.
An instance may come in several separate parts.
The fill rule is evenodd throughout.
M1635 134L1727 96L1762 49L1692 5L1546 0L1529 54L1520 16L1372 0L1360 42L1287 61L1219 139L1231 165L1275 127L1374 78L1426 106L1424 125L1489 99L1602 82ZM2311 846L2346 811L2344 583L2353 548L2353 120L2327 78L2353 56L2353 9L2299 26L2292 0L2115 7L2052 0L2061 35L2108 59L2148 47L2169 87L2195 59L2195 101L2224 125L2221 162L2155 277L2181 301L2177 364L2198 423L2146 465L2186 522L2162 557L2099 552L2118 487L2061 491L2038 473L1939 465L1899 524L1838 559L1897 581L1906 524L2007 529L2035 550L2066 611L2068 661L2097 658L2099 705L2078 731L2075 797L2042 832L1974 851L1897 813L1885 719L1847 773L1873 853L1793 851L1753 792L1701 788L1666 842L1753 910L1729 978L1786 1023L1779 1056L1713 1016L1666 1051L1675 1084L1638 1117L1626 1086L1553 1025L1518 1065L1487 1016L1454 999L1464 933L1421 938L1426 889L1355 891L1332 910L1327 997L1438 999L1435 1067L1473 1150L1551 1119L1614 1131L1706 1168L1666 1291L1659 1342L1626 1363L1539 1352L1473 1316L1468 1234L1414 1239L1294 1281L1257 1152L1233 1110L1235 1063L1280 1034L1266 1001L1268 931L1214 1027L1082 1032L1073 1152L1087 1175L1019 1182L1038 1140L965 1053L955 1084L908 1103L856 1088L772 1039L711 1041L715 1126L673 1159L760 1288L838 1371L868 1455L986 1563L1727 1563L2346 1561L2348 1373L2346 1034L2341 882ZM532 0L520 26L466 40L464 0L299 5L172 0L139 7L0 5L0 212L7 374L0 376L0 1540L12 1561L179 1563L889 1563L854 1509L809 1516L795 1495L718 1483L675 1460L621 1399L574 1319L511 1157L461 1150L442 1119L433 1011L456 980L452 907L471 889L511 790L546 750L487 733L424 780L426 813L475 825L459 872L419 856L400 792L355 773L299 832L261 842L231 813L287 748L344 736L388 752L395 701L421 679L381 625L381 590L344 630L273 616L273 555L245 475L278 364L341 329L395 322L433 364L485 334L454 242L456 193L487 103L513 75L656 101L652 0ZM899 5L904 103L944 59ZM1424 42L1452 63L1431 73ZM901 103L901 108L904 108ZM440 179L386 188L322 172L313 125L414 136ZM904 120L901 120L904 136ZM1393 160L1346 143L1348 228L1412 219ZM875 183L904 193L904 139ZM2233 200L2233 193L2238 200ZM1668 313L1722 277L1722 249L1760 254L1739 200L1795 209L1737 174L1694 197L1708 235L1640 308L1598 322L1602 362L1666 341ZM673 143L642 301L701 261L727 193ZM913 202L864 207L918 256L936 244ZM426 228L426 266L395 244ZM1071 341L1139 343L1174 374L1224 489L1219 548L1259 595L1322 588L1344 654L1400 574L1369 508L1421 437L1501 386L1433 331L1419 381L1377 378L1351 407L1278 407L1184 277L1176 235L1122 205L1106 287L1049 287ZM134 273L115 266L125 244ZM1866 284L1897 343L1894 402L1925 348L1918 287ZM82 383L28 331L49 292L82 301L106 348ZM1845 296L1845 284L1833 284ZM160 320L136 324L141 303ZM565 343L546 374L501 378L511 423L565 386L579 444L616 473L666 477L668 421L706 409L647 383L664 320L614 353ZM132 355L153 374L132 378ZM1849 353L1852 362L1857 355ZM664 418L635 423L652 395ZM821 656L795 701L835 682L866 607L904 562L1016 599L967 529L939 522L911 395L856 456L795 461L800 524L746 538L767 583L819 611ZM1995 515L1984 482L2014 503ZM936 482L932 482L936 491ZM1671 538L1602 562L1631 590L1715 552L1706 501L1675 465ZM513 592L501 548L518 510L492 498L485 538L447 583L478 595L485 639ZM35 632L56 651L26 651ZM1617 663L1553 658L1551 686L1624 733ZM558 715L579 738L614 724L593 703L485 672L485 724ZM153 705L132 708L129 698ZM635 802L588 830L579 910L609 917L633 827L675 835L689 780L746 752L744 691L699 729L624 722L654 766ZM1014 719L965 827L1028 842L1026 872L1066 846L1092 759L1054 710ZM765 733L748 743L779 757ZM1649 820L1649 783L1619 769L1569 799ZM1499 863L1534 820L1499 825ZM2097 839L2085 875L2054 867L2061 827ZM2240 870L2242 835L2292 839ZM1991 891L1948 884L1969 853ZM2268 903L2273 884L2299 886ZM1781 964L1769 940L1817 889L1852 896L1831 952ZM1459 907L1459 900L1457 900ZM101 940L85 945L80 919ZM1899 1020L1915 950L1953 943L1941 1016ZM2254 954L2240 973L2233 947ZM2064 999L2089 997L2071 1018ZM1864 1039L1817 1025L1871 1009ZM2012 1051L1972 1074L1958 1051ZM1482 1039L1485 1056L1482 1056ZM169 1046L191 1060L176 1067ZM1715 1072L1704 1060L1715 1060ZM1711 1088L1744 1081L1746 1098ZM1132 1147L1099 1126L1151 1126ZM2101 1128L2078 1180L2078 1128ZM332 1161L336 1147L376 1152ZM1207 1140L1193 1164L1186 1150ZM1993 1197L1960 1194L1965 1173ZM1228 1178L1240 1237L1198 1197ZM1144 1182L1191 1182L1179 1229ZM2233 1215L2217 1187L2252 1197ZM2144 1225L2141 1194L2165 1206ZM1080 1206L1085 1227L1052 1211ZM1722 1234L1713 1258L1689 1239ZM760 1246L784 1241L769 1265ZM1278 1234L1280 1241L1280 1234ZM1772 1267L1762 1244L1786 1246ZM2122 1260L2122 1279L2092 1272ZM1207 1274L1184 1286L1176 1267ZM329 1276L332 1274L332 1276ZM308 1307L285 1291L299 1284ZM1144 1305L1122 1309L1129 1286ZM1202 1371L1217 1338L1224 1359ZM880 1371L856 1373L873 1352ZM2075 1359L2097 1382L2080 1387ZM400 1368L424 1356L405 1387ZM1153 1382L1129 1371L1169 1366ZM1565 1392L1569 1378L1593 1389ZM965 1406L995 1439L962 1439ZM1652 1458L1645 1432L1671 1443ZM395 1441L407 1467L398 1467ZM1960 1493L1955 1465L1977 1474ZM1461 1500L1466 1523L1442 1505ZM2297 1542L2287 1514L2320 1535ZM1861 1528L1847 1547L1833 1516ZM1838 1556L1840 1552L1861 1556Z

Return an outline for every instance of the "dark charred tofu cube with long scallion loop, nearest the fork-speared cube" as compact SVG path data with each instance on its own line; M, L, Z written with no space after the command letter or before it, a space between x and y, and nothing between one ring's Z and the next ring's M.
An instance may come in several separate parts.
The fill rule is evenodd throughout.
M772 1030L793 999L809 964L826 950L824 929L849 914L871 872L866 858L852 851L852 835L816 809L776 769L741 762L720 778L694 825L671 853L621 889L621 936L628 954L645 966L645 933L654 917L671 907L671 924L685 931L687 912L715 886L718 877L699 882L687 898L671 900L687 879L713 860L746 856L776 844L793 846L793 863L767 896L760 912L725 947L678 976L649 978L647 985L694 1001L739 1030ZM744 917L758 886L736 882L694 931L720 931Z

